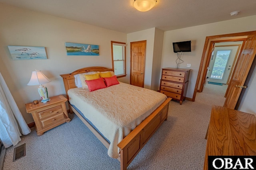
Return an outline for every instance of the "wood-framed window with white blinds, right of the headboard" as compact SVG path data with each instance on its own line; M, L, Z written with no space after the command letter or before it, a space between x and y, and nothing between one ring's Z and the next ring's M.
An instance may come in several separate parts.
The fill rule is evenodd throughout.
M115 75L120 78L126 76L125 59L126 59L126 43L111 41L112 49L112 68Z

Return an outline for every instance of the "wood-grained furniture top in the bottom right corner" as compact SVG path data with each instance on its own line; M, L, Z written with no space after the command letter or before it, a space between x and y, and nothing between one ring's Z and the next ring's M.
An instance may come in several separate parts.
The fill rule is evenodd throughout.
M208 156L256 155L256 116L221 106L212 106L204 170Z

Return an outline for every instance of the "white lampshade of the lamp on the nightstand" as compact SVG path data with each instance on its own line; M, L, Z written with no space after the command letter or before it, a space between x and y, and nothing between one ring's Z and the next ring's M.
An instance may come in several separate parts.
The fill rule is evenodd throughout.
M28 82L28 86L41 85L50 82L40 70L32 71L31 78Z

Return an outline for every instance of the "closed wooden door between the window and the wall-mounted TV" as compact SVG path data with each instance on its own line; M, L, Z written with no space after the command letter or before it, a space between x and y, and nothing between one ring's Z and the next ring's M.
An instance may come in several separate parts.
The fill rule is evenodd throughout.
M131 42L130 84L144 87L146 40Z

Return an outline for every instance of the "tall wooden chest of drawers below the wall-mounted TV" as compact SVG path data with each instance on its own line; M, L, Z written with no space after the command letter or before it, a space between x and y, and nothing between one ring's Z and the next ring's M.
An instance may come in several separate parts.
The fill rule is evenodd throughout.
M162 68L160 92L166 96L179 100L180 104L186 98L190 69Z

